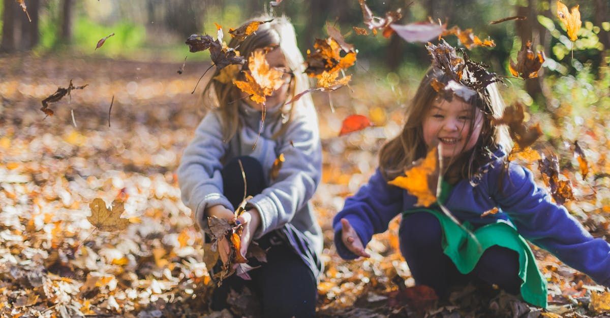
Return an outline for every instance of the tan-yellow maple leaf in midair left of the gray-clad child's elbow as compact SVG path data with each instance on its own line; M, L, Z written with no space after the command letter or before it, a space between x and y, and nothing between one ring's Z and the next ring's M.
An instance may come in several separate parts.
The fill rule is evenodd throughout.
M100 231L120 231L129 225L127 219L121 219L121 214L125 210L123 202L115 200L112 202L112 209L108 210L104 200L96 198L89 203L89 208L91 216L88 216L87 220Z

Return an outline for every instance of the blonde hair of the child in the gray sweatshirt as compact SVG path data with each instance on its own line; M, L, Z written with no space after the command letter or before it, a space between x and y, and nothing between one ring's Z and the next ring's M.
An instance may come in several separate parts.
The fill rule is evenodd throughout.
M285 105L285 102L292 99L296 94L309 88L309 80L307 79L306 74L304 74L304 58L296 45L295 28L292 26L289 19L285 16L273 17L262 15L247 21L244 25L251 21L268 21L271 19L273 19L273 21L260 24L256 33L249 35L242 42L237 41L236 38L232 38L228 46L229 48L237 49L237 51L240 52L240 55L246 58L246 61L256 49L263 49L270 46L279 46L284 54L286 66L290 68L293 76L290 81L287 99L284 100L284 105L281 107L281 111L284 113L286 119L283 122L281 129L274 133L273 138L276 138L285 131L287 123L292 121L293 110L307 104L313 105L313 102L311 97L306 95L290 105ZM206 88L204 88L203 104L208 110L218 111L223 127L223 139L225 142L228 142L242 127L242 121L240 120L239 115L240 101L238 101L240 99L240 93L239 89L235 87L233 83L221 83L218 80L214 80L213 77L218 74L219 70L216 69L212 75L212 80L210 80L210 82L207 83Z

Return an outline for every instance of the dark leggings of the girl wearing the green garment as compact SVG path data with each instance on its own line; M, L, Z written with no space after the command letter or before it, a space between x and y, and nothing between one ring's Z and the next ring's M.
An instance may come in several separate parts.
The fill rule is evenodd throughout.
M487 249L475 269L460 274L453 261L443 253L442 229L436 216L427 212L407 214L400 225L400 252L409 264L415 283L433 288L439 297L448 296L455 284L478 280L497 284L511 294L519 294L519 254L505 247Z

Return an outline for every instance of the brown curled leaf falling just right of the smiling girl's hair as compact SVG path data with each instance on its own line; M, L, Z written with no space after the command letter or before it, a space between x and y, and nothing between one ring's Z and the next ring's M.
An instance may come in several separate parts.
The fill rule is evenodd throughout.
M532 127L527 127L523 120L525 119L525 110L523 105L515 103L511 107L506 107L501 118L492 118L493 125L508 125L508 132L512 140L519 144L521 149L526 149L534 143L540 136L542 130L540 124Z

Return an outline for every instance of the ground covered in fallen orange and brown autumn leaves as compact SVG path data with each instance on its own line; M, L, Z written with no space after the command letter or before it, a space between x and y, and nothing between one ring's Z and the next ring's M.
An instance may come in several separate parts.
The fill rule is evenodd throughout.
M211 283L201 236L181 202L174 172L203 116L197 94L190 92L207 68L187 63L179 75L181 65L0 58L0 316L228 315L207 309ZM325 156L323 182L313 199L325 233L318 316L595 317L610 309L604 309L608 300L600 300L608 297L603 287L537 249L549 281L548 311L472 286L437 302L426 297L426 289L412 288L414 280L397 252L398 220L370 242L371 258L340 260L332 246L332 216L371 175L379 146L400 131L403 105L414 90L408 83L390 87L363 68L357 72L353 91L332 93L334 113L328 94L314 96ZM88 87L49 104L55 115L45 118L41 101L71 79L74 86ZM338 137L342 119L354 113L376 126ZM603 124L586 119L590 129L579 140L596 173L610 171ZM556 151L562 168L568 167L562 174L575 188L577 202L567 207L594 236L607 235L608 178L581 182L573 150ZM531 166L539 175L536 167ZM117 196L130 225L114 233L95 230L87 221L89 203L96 197L110 203ZM232 308L247 316L248 296L234 296Z

